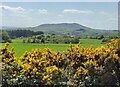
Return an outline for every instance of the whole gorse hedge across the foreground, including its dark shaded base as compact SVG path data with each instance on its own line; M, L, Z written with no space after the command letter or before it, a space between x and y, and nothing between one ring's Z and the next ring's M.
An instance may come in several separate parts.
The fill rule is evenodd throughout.
M120 86L120 39L111 40L108 47L81 48L80 43L64 53L33 49L14 58L9 43L1 49L3 87L18 86Z

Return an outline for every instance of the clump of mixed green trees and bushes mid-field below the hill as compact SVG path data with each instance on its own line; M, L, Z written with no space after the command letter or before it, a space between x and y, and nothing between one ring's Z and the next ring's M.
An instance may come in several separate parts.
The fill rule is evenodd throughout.
M35 35L33 37L30 37L31 41L27 41L27 43L62 43L62 44L69 44L70 42L72 43L78 43L79 42L79 37L71 37L70 35L68 36L59 36L55 34L50 34L50 35Z

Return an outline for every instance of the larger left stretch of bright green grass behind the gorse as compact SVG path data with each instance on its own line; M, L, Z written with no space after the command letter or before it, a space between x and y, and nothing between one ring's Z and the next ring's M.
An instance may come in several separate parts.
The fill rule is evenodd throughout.
M25 51L31 51L32 49L40 48L42 51L45 51L45 48L50 48L53 51L65 51L68 47L66 44L22 44L22 43L13 43L10 44L9 49L12 47L15 48L15 57L20 57Z

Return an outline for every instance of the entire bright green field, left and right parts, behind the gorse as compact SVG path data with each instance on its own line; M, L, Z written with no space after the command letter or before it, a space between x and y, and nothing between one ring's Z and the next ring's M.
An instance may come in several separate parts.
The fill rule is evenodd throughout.
M96 39L80 39L80 43L81 43L81 47L89 47L92 45L94 48L97 48L99 46L106 46L105 44L101 44L100 40L96 40ZM22 56L25 51L31 51L32 49L36 49L36 48L40 48L42 51L45 51L45 48L50 48L52 51L63 52L69 47L69 44L22 43L22 39L15 39L9 45L9 49L11 49L12 47L14 47L16 52L15 57L18 58Z

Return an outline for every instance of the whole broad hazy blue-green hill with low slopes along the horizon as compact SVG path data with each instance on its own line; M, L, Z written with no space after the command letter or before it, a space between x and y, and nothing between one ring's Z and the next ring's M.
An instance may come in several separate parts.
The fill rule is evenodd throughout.
M7 27L7 30L10 30L10 29ZM97 36L97 35L106 35L106 36L118 35L117 30L92 29L87 26L80 25L78 23L41 24L35 27L13 28L13 30L15 29L43 31L44 33L55 33L59 35L70 33L72 35L82 36L82 37Z

